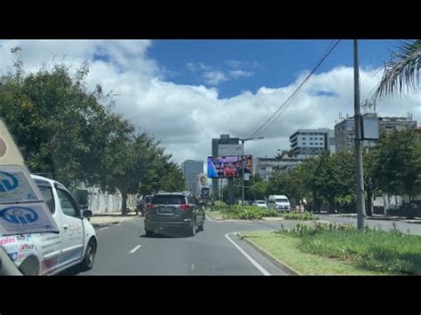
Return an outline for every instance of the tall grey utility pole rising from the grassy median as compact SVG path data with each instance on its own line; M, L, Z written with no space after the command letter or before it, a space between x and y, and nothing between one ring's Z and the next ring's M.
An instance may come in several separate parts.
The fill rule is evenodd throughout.
M357 183L357 227L365 226L364 177L362 170L362 115L360 110L360 71L358 65L358 42L353 40L353 107L355 122L355 169Z

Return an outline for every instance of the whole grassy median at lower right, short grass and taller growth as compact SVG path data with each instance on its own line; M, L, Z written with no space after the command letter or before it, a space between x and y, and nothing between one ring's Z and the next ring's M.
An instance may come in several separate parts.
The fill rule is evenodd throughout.
M421 236L345 224L242 232L271 256L308 275L421 274Z

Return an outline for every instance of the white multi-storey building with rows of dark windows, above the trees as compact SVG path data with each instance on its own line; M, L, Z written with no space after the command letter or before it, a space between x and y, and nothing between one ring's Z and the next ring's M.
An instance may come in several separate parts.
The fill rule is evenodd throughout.
M334 130L329 128L300 129L290 136L290 147L294 156L322 154L333 146L332 142Z

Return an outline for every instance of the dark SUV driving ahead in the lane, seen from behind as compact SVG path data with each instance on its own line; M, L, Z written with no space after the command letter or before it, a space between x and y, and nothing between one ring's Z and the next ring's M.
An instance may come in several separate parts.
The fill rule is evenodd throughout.
M147 236L174 227L194 236L203 231L204 210L192 193L156 193L147 204L145 231Z

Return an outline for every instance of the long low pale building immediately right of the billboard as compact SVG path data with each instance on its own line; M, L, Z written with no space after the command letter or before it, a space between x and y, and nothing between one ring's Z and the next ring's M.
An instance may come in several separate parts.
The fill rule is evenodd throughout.
M256 158L254 162L254 173L262 177L263 181L267 181L271 175L276 171L285 171L296 167L301 161L304 161L304 157L298 156L284 156L282 159L277 158Z

